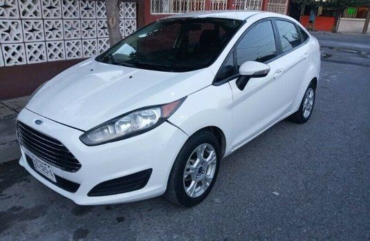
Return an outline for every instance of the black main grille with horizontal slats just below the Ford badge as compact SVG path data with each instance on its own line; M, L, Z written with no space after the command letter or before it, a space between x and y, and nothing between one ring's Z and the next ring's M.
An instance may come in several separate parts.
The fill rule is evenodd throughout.
M57 139L21 122L17 122L17 134L19 143L41 160L73 173L81 168L81 163Z

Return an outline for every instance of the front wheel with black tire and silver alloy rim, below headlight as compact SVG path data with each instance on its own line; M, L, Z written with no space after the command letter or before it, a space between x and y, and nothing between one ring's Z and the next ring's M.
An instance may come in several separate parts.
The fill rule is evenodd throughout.
M203 161L196 162L200 154L203 155L203 159L199 159ZM215 160L213 160L214 157ZM210 161L204 164L206 162L205 160L208 159ZM220 159L221 148L212 133L201 131L189 137L172 166L165 198L169 202L185 207L192 207L202 202L208 193L210 193L214 182L216 182ZM189 173L186 177L185 171ZM210 180L209 177L211 175L212 179ZM193 185L192 188L194 191L191 185ZM203 190L203 187L205 190ZM189 191L189 194L185 189Z

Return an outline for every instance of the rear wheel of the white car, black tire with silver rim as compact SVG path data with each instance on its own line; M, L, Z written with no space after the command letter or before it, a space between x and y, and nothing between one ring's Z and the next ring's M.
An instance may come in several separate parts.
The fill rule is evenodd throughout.
M310 97L311 93L313 95L312 97ZM311 83L307 87L306 92L304 93L304 97L299 106L299 109L288 117L290 122L295 122L298 124L306 123L312 115L313 106L315 106L315 97L316 97L315 88L313 84ZM308 104L307 102L311 102L311 104ZM308 106L306 106L306 104L308 104ZM309 111L309 113L307 113L306 111Z

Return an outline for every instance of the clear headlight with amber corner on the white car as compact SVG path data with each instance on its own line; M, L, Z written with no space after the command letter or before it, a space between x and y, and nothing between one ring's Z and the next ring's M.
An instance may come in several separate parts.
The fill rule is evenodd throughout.
M80 136L81 142L96 146L145 133L159 126L183 104L186 97L160 106L133 110L109 120Z

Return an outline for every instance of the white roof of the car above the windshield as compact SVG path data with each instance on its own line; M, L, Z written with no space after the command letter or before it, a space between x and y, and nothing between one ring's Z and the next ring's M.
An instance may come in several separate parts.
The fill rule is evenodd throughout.
M187 12L182 14L171 15L164 17L163 19L174 19L174 18L204 18L204 17L215 17L222 19L238 19L244 20L252 15L263 13L264 11L253 11L253 10L212 10L212 11L198 11L198 12Z

